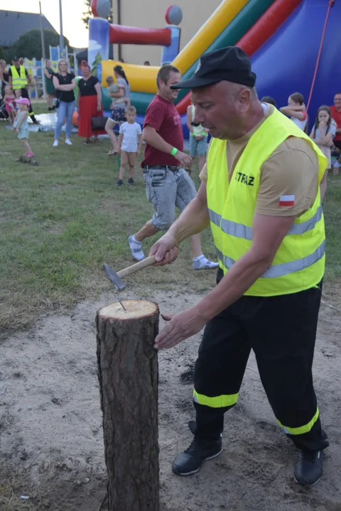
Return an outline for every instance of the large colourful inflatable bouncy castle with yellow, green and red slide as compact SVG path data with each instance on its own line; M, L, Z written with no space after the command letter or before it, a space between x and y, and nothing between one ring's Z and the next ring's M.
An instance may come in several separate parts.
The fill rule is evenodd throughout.
M165 28L139 28L113 25L105 19L109 0L92 0L94 18L90 19L89 64L99 77L113 74L117 60L108 60L109 45L160 45L161 65L170 62L184 79L193 75L200 56L229 45L237 45L251 57L256 72L256 89L261 96L271 96L278 105L287 103L288 95L299 91L309 99L313 116L321 104L332 104L340 88L341 0L223 0L212 16L179 52L182 12L170 6ZM156 94L158 66L121 64L131 84L131 104L138 119ZM102 89L104 109L110 100ZM181 90L175 106L183 117L183 129L190 94Z

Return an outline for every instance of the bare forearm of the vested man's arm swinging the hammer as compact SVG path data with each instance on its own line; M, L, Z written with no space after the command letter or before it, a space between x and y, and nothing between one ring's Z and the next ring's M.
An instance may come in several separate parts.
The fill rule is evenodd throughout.
M193 234L200 233L210 224L207 205L200 197L195 197L180 214L178 220L168 230L181 243Z

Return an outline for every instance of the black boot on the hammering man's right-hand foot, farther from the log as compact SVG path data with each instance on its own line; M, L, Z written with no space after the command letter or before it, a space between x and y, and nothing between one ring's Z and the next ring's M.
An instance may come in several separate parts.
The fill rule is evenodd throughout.
M302 449L293 473L296 483L303 486L313 486L318 483L322 473L323 451Z

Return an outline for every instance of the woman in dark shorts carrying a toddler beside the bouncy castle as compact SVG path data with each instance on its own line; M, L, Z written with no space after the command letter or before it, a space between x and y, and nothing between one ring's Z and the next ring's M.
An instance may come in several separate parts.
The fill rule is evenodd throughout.
M108 155L117 153L117 138L113 128L115 124L126 121L124 111L126 106L130 104L130 85L121 65L116 65L114 67L114 76L117 79L119 88L117 92L109 91L109 96L112 98L112 106L110 107L112 109L112 115L107 120L105 131L107 131L109 135L113 148L109 150Z

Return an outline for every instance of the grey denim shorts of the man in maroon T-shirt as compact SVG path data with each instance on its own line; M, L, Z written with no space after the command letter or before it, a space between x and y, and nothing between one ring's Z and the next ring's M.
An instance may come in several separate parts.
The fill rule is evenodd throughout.
M151 223L156 229L167 231L175 219L175 206L183 211L197 194L194 182L188 173L179 170L168 170L148 167L144 170L146 195L155 213Z

